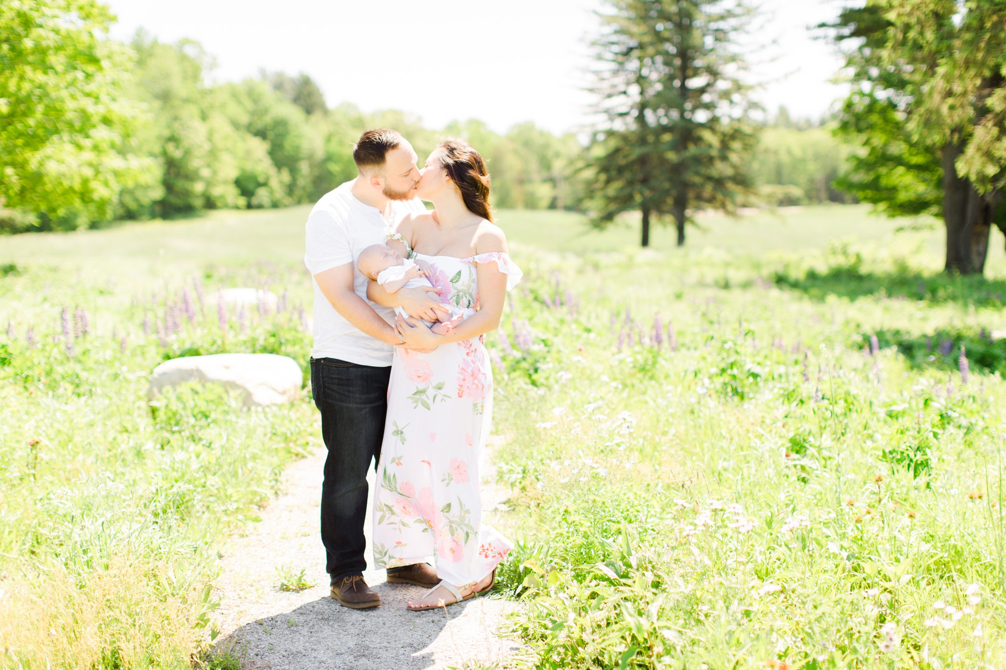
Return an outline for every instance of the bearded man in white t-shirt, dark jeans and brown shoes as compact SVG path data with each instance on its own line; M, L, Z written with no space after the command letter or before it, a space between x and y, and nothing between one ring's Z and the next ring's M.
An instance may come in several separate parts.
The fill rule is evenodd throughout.
M380 456L391 349L401 343L389 324L394 312L366 299L367 279L356 259L371 244L383 244L402 217L426 211L415 198L416 158L394 131L366 131L353 149L358 176L319 200L306 227L304 264L314 276L311 393L328 449L321 538L332 598L354 609L380 605L363 580L366 476ZM398 292L406 311L429 320L444 308L427 289ZM418 564L389 570L388 582L432 587L439 580L431 566Z

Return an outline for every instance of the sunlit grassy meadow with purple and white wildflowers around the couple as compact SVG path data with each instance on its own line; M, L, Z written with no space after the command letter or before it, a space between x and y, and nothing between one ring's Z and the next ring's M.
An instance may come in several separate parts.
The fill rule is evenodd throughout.
M0 667L222 663L215 546L316 413L147 380L306 364L307 211L0 240ZM938 273L932 221L862 207L702 217L684 249L499 219L526 279L490 338L497 589L533 665L1006 666L1001 238L975 279ZM279 309L219 310L238 285Z

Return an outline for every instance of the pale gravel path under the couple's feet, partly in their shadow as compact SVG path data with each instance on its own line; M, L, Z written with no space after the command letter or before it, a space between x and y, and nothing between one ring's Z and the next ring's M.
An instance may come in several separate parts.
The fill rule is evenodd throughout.
M505 492L495 479L491 449L480 459L484 507L489 522L503 510ZM497 629L516 605L498 597L476 598L461 605L414 613L405 601L423 589L392 585L384 571L364 573L380 594L381 607L350 610L331 600L324 549L318 530L325 449L291 465L284 474L286 493L262 512L244 535L221 549L218 580L220 608L214 621L221 635L216 649L231 650L248 670L353 670L409 668L508 668L520 648ZM374 473L370 472L373 489ZM370 512L367 506L367 562L370 560ZM281 592L280 567L307 570L315 585L299 593Z

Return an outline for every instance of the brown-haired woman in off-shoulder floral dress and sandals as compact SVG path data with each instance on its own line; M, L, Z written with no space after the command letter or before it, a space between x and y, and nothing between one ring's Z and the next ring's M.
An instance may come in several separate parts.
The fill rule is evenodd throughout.
M414 611L488 591L511 547L482 523L478 464L492 416L484 336L499 326L506 291L521 276L492 223L489 175L471 146L442 143L416 195L436 209L403 220L389 244L429 262L441 300L471 315L442 336L414 319L396 324L404 346L395 349L388 385L374 563L386 569L433 557L442 582L408 603Z

